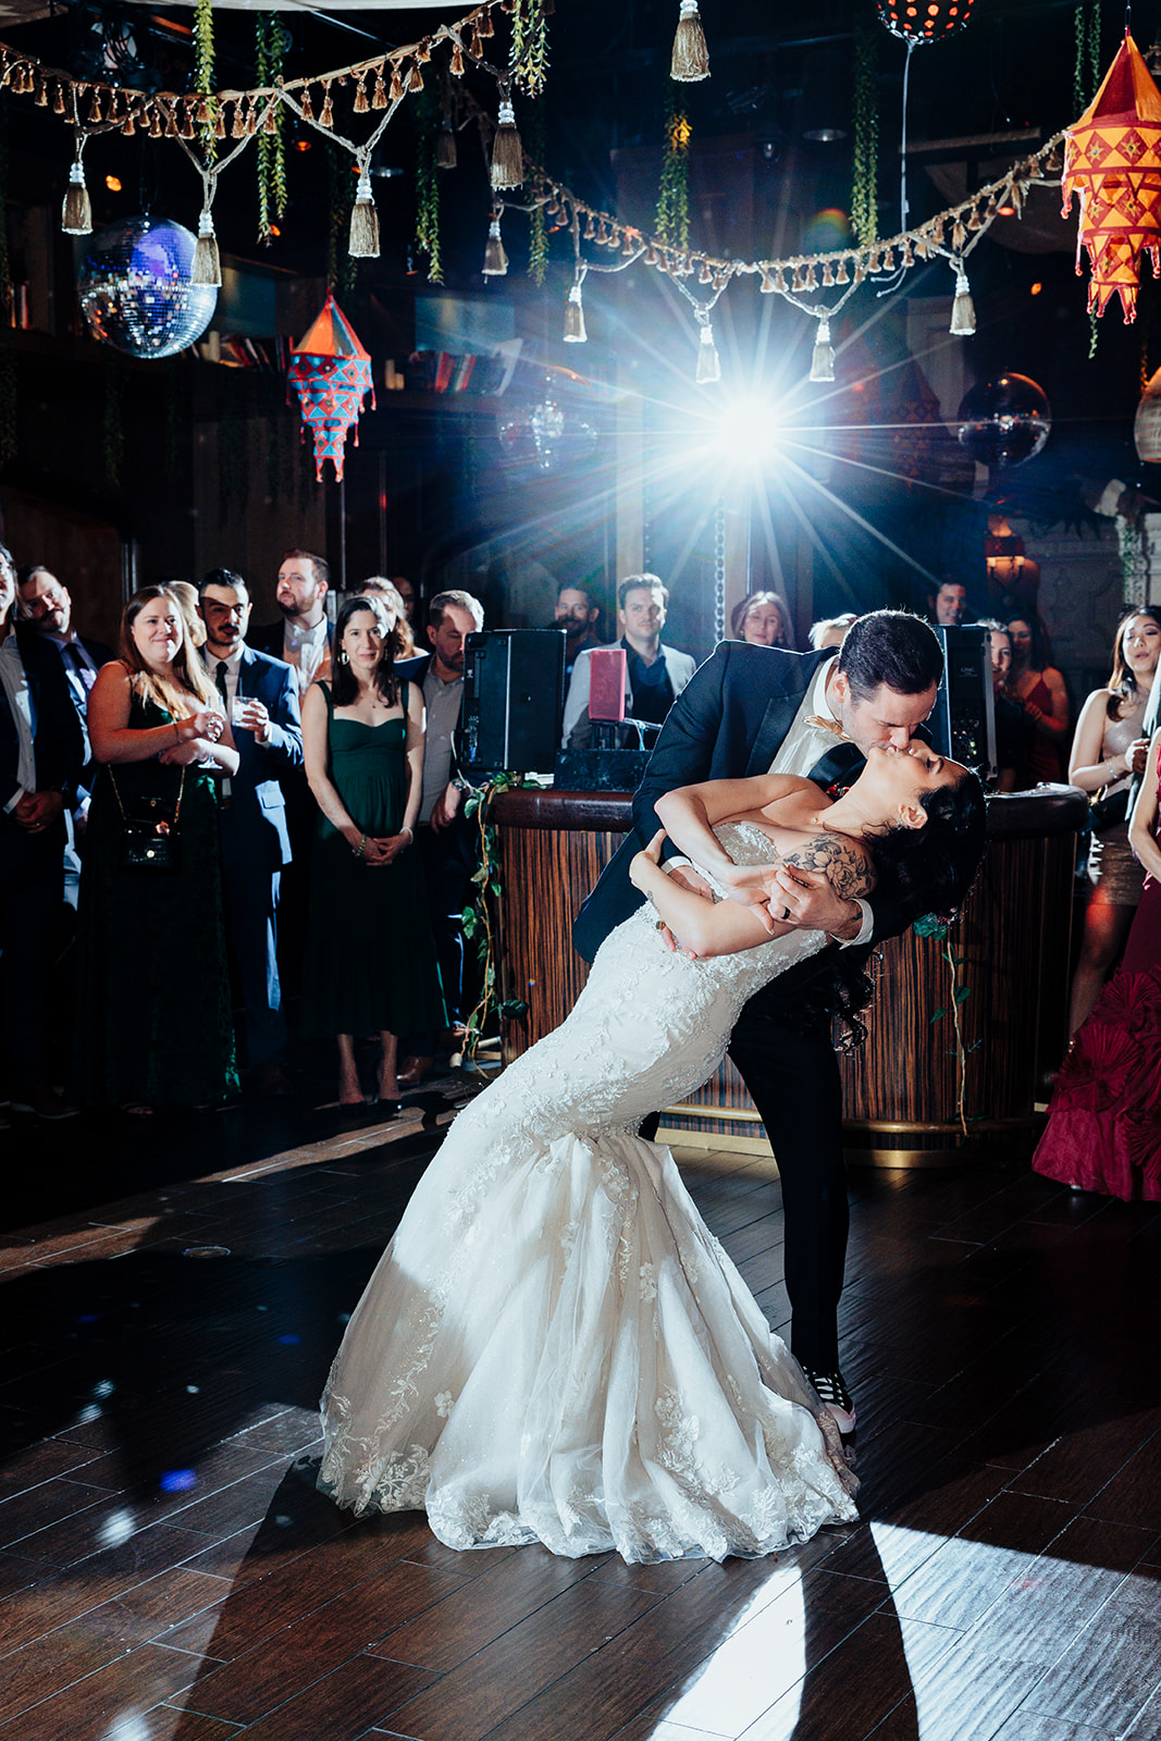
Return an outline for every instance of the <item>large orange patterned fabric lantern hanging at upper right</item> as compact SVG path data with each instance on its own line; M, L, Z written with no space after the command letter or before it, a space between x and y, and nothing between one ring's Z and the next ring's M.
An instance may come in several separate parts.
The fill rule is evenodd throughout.
M1161 91L1140 50L1124 33L1100 91L1064 146L1064 216L1076 193L1076 270L1088 249L1088 310L1102 315L1116 291L1124 320L1137 319L1140 256L1161 268Z

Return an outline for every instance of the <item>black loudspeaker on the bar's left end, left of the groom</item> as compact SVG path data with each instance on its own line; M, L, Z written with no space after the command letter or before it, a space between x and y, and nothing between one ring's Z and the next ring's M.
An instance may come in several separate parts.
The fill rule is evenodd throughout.
M465 773L552 773L562 712L562 629L468 635L460 716Z

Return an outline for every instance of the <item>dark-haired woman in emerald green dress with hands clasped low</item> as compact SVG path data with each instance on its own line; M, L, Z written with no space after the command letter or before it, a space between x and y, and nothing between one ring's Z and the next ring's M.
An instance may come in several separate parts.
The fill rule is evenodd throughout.
M399 1034L446 1027L414 827L423 689L395 677L393 622L353 597L334 625L334 679L303 700L306 778L319 804L303 1029L336 1034L339 1104L362 1106L355 1036L379 1036L378 1100L399 1112Z

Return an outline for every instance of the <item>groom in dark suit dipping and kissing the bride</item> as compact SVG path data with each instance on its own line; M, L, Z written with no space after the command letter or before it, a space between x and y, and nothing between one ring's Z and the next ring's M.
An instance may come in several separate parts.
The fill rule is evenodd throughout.
M834 648L785 653L724 641L665 721L634 796L634 832L576 916L580 954L592 961L607 933L641 904L628 862L660 827L658 797L698 780L761 773L851 785L869 749L907 749L935 707L942 676L940 642L905 611L860 616L837 656ZM825 876L797 869L794 877L785 869L768 876L766 888L750 898L759 895L769 898L775 918L832 938L747 1003L729 1055L778 1160L792 1349L839 1429L849 1433L855 1405L839 1372L837 1321L849 1210L832 1043L841 968L849 963L839 951L856 951L855 963L862 963L872 944L896 937L914 914L874 891L869 902L842 900Z

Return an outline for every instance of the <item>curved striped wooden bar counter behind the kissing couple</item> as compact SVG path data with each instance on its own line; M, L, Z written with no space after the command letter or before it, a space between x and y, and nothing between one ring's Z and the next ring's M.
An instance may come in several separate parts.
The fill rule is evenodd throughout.
M849 1160L933 1165L964 1144L1032 1128L1064 1053L1084 815L1074 787L990 797L987 855L950 937L907 931L872 956L867 1041L841 1059ZM505 1024L508 1060L555 1027L585 984L571 921L632 811L620 792L517 790L496 799L494 818L503 996L527 1003L526 1017ZM769 1153L729 1060L667 1107L663 1126L695 1146Z

